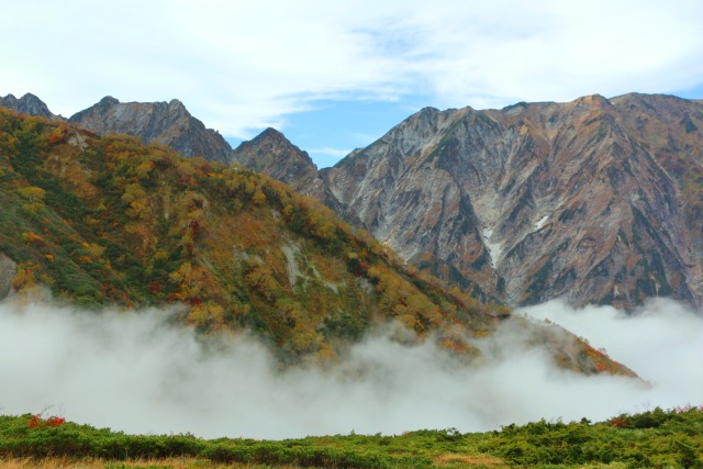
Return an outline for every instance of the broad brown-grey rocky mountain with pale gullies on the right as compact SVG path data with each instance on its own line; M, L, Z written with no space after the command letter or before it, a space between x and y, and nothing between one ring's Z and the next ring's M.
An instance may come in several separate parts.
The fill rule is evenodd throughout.
M510 304L703 300L703 105L424 109L324 171L379 239Z

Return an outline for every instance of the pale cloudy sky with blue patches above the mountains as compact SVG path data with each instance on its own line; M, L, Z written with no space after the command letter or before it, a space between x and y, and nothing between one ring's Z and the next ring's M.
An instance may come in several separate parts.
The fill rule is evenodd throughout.
M631 91L703 98L703 2L0 0L0 96L70 116L178 98L231 143L320 167L423 107Z

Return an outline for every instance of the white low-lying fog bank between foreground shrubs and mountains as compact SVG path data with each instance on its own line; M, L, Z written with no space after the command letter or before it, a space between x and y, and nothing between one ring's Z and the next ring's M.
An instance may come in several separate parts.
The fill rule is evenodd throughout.
M333 369L280 371L250 336L203 346L192 331L172 325L169 312L96 314L5 300L0 413L46 409L129 433L283 438L487 431L703 404L703 317L676 302L651 302L634 316L606 306L574 311L558 301L516 314L562 324L651 386L565 372L538 350L465 368L433 345L405 347L383 334L369 336ZM511 333L498 340L510 348Z

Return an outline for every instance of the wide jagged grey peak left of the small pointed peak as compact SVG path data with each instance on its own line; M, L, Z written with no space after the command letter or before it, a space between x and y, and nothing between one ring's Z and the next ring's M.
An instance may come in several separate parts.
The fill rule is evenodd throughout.
M215 131L193 118L182 102L125 102L112 97L74 114L70 123L99 135L124 133L143 142L169 145L185 156L202 156L224 164L232 161L232 147Z

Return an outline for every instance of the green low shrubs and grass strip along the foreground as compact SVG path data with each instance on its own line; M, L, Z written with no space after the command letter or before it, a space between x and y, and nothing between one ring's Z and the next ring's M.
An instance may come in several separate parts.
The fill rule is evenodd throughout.
M703 407L657 407L600 423L543 420L488 433L443 429L276 442L126 435L27 414L0 416L0 457L13 467L703 468Z

